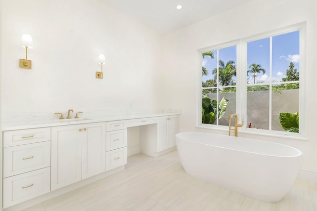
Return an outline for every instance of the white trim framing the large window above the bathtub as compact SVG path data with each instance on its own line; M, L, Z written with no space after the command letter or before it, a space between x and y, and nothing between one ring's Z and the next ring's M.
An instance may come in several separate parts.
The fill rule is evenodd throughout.
M247 116L247 92L246 91L239 91L239 90L246 90L247 84L247 75L245 71L247 69L247 42L260 40L268 37L273 37L280 34L286 34L292 31L300 32L300 99L299 99L299 115L300 115L300 132L299 133L292 133L286 131L276 131L276 130L264 130L264 129L257 129L256 131L253 129L249 129L246 127L246 116ZM271 43L271 42L270 42ZM248 134L259 134L259 135L269 135L274 137L287 137L287 138L295 138L295 139L303 139L306 140L306 22L294 24L291 26L283 27L277 30L261 33L258 35L249 36L246 38L242 38L239 40L225 42L217 45L213 45L210 47L205 47L198 49L199 55L199 74L197 74L198 80L198 88L197 88L197 113L196 113L196 127L199 128L207 128L207 129L216 129L216 130L228 130L227 126L217 126L217 125L208 125L202 124L202 53L206 51L213 51L214 49L225 48L229 46L237 46L237 60L236 60L236 68L237 68L237 97L236 97L236 112L238 114L239 122L244 121L244 126L238 128L242 133ZM271 54L271 48L270 48ZM271 59L271 56L270 56ZM243 61L245 60L245 61ZM271 61L270 61L270 71L271 71ZM271 74L270 74L271 77ZM271 102L270 102L271 103ZM271 115L271 111L270 111Z

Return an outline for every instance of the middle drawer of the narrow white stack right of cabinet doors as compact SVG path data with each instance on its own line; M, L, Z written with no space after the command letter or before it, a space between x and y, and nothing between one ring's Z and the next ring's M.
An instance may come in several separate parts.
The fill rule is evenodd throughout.
M106 132L106 151L127 146L127 129Z

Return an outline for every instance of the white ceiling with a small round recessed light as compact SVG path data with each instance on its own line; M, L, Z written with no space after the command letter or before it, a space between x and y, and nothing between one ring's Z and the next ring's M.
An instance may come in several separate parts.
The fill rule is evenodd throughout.
M106 5L167 34L252 0L100 0ZM182 9L176 9L177 5Z

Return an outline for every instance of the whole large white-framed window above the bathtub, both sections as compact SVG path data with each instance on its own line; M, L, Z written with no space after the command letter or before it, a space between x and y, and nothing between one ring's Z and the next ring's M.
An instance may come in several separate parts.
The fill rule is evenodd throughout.
M228 126L238 114L246 131L303 136L304 27L203 49L198 125Z

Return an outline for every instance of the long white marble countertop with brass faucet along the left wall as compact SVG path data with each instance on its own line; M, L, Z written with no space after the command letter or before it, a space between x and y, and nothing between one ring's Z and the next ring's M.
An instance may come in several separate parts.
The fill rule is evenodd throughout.
M2 131L7 130L17 130L17 129L30 129L36 127L54 127L54 126L65 126L65 125L75 125L75 124L85 124L85 123L97 123L97 122L107 122L107 121L117 121L117 120L129 120L129 119L139 119L139 118L149 118L149 117L161 117L168 115L179 115L179 111L153 111L153 112L114 112L116 114L111 114L111 112L84 112L80 114L78 119L52 119L48 118L47 115L11 115L6 117L6 120L2 121ZM53 116L58 118L58 115ZM50 115L51 117L51 115ZM65 115L64 115L65 117Z

